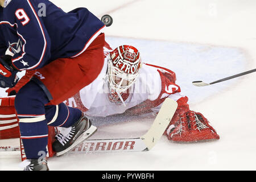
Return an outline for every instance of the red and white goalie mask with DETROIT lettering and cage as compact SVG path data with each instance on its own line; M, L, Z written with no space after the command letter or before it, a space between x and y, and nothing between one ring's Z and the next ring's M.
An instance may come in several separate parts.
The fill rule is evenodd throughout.
M108 81L109 100L124 101L129 97L131 86L139 76L141 54L133 46L119 46L109 54Z

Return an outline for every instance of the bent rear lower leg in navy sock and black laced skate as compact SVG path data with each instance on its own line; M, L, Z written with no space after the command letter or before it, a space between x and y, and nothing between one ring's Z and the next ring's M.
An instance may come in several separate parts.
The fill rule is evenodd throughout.
M57 135L52 144L53 151L56 152L57 156L72 150L73 147L97 130L79 109L68 107L63 103L56 106L46 106L46 118L48 118L49 126L71 127L71 131L67 135Z

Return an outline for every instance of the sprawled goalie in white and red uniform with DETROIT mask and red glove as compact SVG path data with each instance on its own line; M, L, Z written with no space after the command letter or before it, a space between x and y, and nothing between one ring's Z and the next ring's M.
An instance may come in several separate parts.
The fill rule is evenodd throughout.
M158 113L166 98L178 104L174 117L164 135L174 142L198 142L219 139L203 114L189 109L188 97L181 94L175 72L170 69L143 63L141 54L133 46L119 46L114 50L105 43L105 63L100 75L90 85L73 96L73 107L91 117L115 114L139 115ZM15 115L15 94L36 71L27 71L14 88L6 90L9 97L1 99L0 138L19 137L18 118ZM70 106L70 100L63 105ZM55 115L57 115L57 109ZM66 118L67 120L67 118ZM49 130L53 131L53 129ZM54 132L52 134L54 135ZM54 136L51 136L54 137ZM65 140L58 134L56 140ZM49 139L48 147L53 140Z

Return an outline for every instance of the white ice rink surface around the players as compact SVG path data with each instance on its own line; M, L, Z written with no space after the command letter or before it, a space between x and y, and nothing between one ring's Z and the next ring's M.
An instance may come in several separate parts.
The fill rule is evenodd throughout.
M13 0L14 1L14 0ZM110 46L132 44L144 62L176 72L191 110L210 121L220 140L174 143L162 137L148 152L76 154L48 160L51 170L255 170L256 73L196 87L256 68L255 0L52 0L65 11L110 14ZM117 119L118 120L118 119ZM130 121L131 120L131 121ZM99 137L139 137L152 119L96 122ZM14 140L0 140L15 143ZM19 152L0 152L0 171L21 170Z

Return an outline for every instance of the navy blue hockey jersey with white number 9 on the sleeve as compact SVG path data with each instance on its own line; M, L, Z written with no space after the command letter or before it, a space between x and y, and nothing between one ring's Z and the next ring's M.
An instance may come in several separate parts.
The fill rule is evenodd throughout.
M79 56L104 27L86 8L65 13L48 0L6 0L0 8L0 56L11 52L20 71L42 68Z

